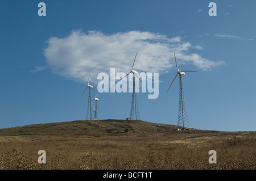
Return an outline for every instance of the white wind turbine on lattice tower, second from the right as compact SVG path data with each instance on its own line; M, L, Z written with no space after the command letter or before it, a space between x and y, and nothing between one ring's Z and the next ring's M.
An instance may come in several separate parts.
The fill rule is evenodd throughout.
M137 52L138 53L138 52ZM136 95L136 92L135 92L135 77L137 77L139 79L139 81L141 81L141 79L138 77L138 72L133 70L134 68L134 62L136 60L136 57L137 57L137 53L135 55L135 58L134 58L134 61L133 61L133 67L131 68L131 71L129 73L127 73L125 75L125 77L127 77L130 73L133 74L133 95L131 96L131 110L130 110L130 120L134 120L134 117L135 117L135 120L139 120L140 117L139 117L139 108L138 108L138 102L137 102L137 95ZM120 81L125 78L125 77L122 77L120 79ZM142 81L141 81L142 82ZM135 114L135 116L134 116Z

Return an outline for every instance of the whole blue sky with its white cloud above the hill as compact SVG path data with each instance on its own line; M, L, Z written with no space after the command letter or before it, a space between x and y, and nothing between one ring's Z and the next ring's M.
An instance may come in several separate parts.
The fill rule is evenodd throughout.
M46 16L38 16L38 3ZM217 16L209 16L210 2ZM89 71L159 73L141 119L177 124L183 77L191 128L256 131L255 1L0 1L0 128L84 120ZM81 48L81 49L80 49ZM75 52L75 53L74 53ZM115 67L116 66L116 67ZM92 91L92 96L96 94ZM101 93L98 119L129 117L131 93Z

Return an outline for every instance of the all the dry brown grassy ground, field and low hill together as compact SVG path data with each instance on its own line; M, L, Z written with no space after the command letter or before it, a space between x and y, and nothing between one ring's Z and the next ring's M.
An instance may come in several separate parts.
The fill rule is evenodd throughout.
M173 128L144 121L97 120L0 129L0 167L256 169L256 132L175 132ZM38 163L39 150L46 151L46 164ZM216 150L216 164L208 162L209 150Z

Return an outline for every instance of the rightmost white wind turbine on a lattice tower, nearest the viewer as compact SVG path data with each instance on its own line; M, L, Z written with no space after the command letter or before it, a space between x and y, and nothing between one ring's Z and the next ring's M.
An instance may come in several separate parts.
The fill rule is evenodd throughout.
M183 127L183 131L189 129L189 123L188 123L188 116L187 116L187 110L185 107L185 98L184 98L184 92L183 92L183 79L182 76L185 75L185 72L197 72L197 71L192 71L192 70L179 70L177 66L177 61L176 61L176 56L174 53L174 58L175 58L175 63L176 63L176 68L177 68L177 73L174 77L174 80L172 83L174 83L177 75L179 74L180 78L180 100L179 100L179 116L178 116L178 121L177 125ZM170 87L172 86L172 83ZM167 92L169 91L170 87L168 88Z

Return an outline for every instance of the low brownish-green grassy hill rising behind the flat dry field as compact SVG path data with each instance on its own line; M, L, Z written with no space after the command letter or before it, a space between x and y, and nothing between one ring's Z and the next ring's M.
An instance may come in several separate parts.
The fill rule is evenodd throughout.
M156 136L177 134L176 125L141 120L76 120L0 129L0 136ZM205 132L191 129L189 132Z

